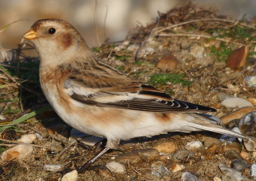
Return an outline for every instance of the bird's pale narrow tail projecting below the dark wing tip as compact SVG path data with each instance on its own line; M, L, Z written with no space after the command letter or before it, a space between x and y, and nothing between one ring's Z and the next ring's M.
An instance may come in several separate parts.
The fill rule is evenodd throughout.
M216 132L216 133L220 133L220 134L233 136L233 137L236 137L236 138L248 139L248 137L246 137L246 136L244 136L240 133L237 133L235 131L228 130L226 128L222 128L218 125L207 122L207 121L205 121L205 119L208 119L210 121L212 121L212 119L207 118L207 117L202 118L199 115L198 116L190 115L193 118L190 119L191 121L187 121L186 125L189 126L189 127L195 128L195 129L208 130L208 131L212 131L212 132Z

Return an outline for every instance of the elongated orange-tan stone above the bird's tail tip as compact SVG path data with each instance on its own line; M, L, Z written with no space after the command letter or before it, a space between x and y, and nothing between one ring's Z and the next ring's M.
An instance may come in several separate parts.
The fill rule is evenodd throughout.
M236 111L232 111L225 116L222 116L220 119L224 124L228 124L228 122L234 120L234 119L241 119L245 114L254 111L254 109L250 106L248 107L242 107L240 109L237 109Z

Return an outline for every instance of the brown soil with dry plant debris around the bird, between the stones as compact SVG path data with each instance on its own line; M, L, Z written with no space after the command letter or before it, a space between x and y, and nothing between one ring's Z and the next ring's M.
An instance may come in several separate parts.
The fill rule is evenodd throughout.
M183 24L173 26L179 23ZM247 29L245 27L247 27ZM236 34L232 34L236 32L238 28L242 28L246 33L250 33L250 36L245 37L242 33L237 33L237 36ZM255 70L249 71L248 66L246 66L247 64L240 69L227 68L225 60L228 54L225 54L227 52L224 51L224 49L234 50L241 45L247 45L250 48L248 59L251 61L255 59L253 58L253 49L255 47L255 39L253 39L253 37L255 38L255 29L255 27L251 28L249 22L246 20L243 22L232 20L230 17L218 15L217 10L214 8L205 9L189 3L174 8L167 13L159 12L159 17L156 21L149 23L146 27L138 25L138 27L127 35L124 41L117 43L109 43L106 41L102 47L94 48L93 51L126 74L141 82L150 83L158 89L169 93L174 98L211 106L212 104L220 103L220 99L218 98L219 92L225 92L244 99L255 98L255 89L249 88L244 83L244 78L248 75L255 75ZM218 33L218 38L220 39L216 37L202 37L202 35L212 37L212 33L214 32ZM222 39L224 41L220 41ZM195 45L204 48L203 56L194 57L191 55L191 47ZM134 60L139 46L140 51L137 60ZM216 48L213 48L214 46ZM2 92L9 93L0 95L1 100L23 98L22 110L20 101L8 102L7 106L11 107L11 109L21 110L19 113L11 111L3 112L2 114L8 118L9 121L23 115L24 111L27 109L35 110L40 106L47 105L38 84L38 73L36 70L38 69L38 59L36 57L23 56L26 54L26 51L21 50L20 61L23 62L23 64L20 64L20 67L26 67L28 63L30 65L31 62L35 62L33 66L36 68L29 73L32 75L32 78L22 83L22 89L18 85L17 87L8 86L2 89ZM178 67L166 71L155 67L156 62L160 58L170 54L178 59ZM8 65L17 66L15 59L12 60L12 63L9 62ZM16 74L17 68L9 68L13 74ZM20 74L13 76L13 78L19 80L17 78L19 77L22 80L22 71L25 70L20 69ZM156 77L152 77L152 75L156 74L184 75L182 79L190 82L190 85L180 83L179 81L173 83L171 80L167 80L167 83L164 83L156 79ZM12 83L12 81L8 79L1 78L1 80L2 84L8 83L8 81ZM20 96L20 91L22 97ZM3 107L4 104L5 102L2 101L1 107ZM234 108L220 106L218 112L211 114L221 117L233 110ZM47 134L46 128L56 124L65 123L62 122L56 114L52 113L52 111L47 111L11 129L4 130L5 134L2 133L2 138L4 138L3 135L5 135L5 139L9 140L16 140L23 134L40 133L43 139L36 139L34 144L51 146L55 148L55 151L34 147L33 152L23 161L13 160L0 163L1 168L3 168L3 173L0 174L0 180L58 180L68 171L79 168L104 146L104 142L92 147L76 143L54 162L54 164L62 165L60 171L45 171L42 168L44 163L51 162L52 159L68 145L67 141L70 127L59 129L54 135ZM219 134L212 132L174 132L166 135L158 135L153 138L134 138L133 141L138 142L138 144L134 144L134 146L128 148L125 146L125 143L129 141L122 141L118 148L125 153L130 153L134 149L152 148L159 143L173 140L177 145L177 150L179 150L184 149L186 143L190 141L199 140L203 142L208 137L219 138L219 136ZM10 144L11 143L1 142L1 152L9 149ZM108 152L94 164L105 165L112 161L112 156L118 153L120 152ZM219 169L219 164L225 163L229 165L231 163L231 160L225 158L222 153L206 155L195 154L193 157L177 161L178 164L184 165L185 169L175 173L171 172L171 175L159 178L151 174L151 164L155 161L159 161L159 158L153 161L148 161L144 158L137 164L127 163L125 164L127 170L125 173L112 173L107 170L90 170L79 174L78 180L180 180L182 173L190 172L196 175L201 181L204 181L213 180L215 176L221 178L223 174ZM251 157L250 162L251 164L256 163L255 157ZM242 173L243 176L252 179L248 169L245 169Z

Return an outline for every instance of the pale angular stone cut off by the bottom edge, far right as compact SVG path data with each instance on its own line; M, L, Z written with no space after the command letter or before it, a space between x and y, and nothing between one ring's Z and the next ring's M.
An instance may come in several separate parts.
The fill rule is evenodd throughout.
M250 181L250 179L242 176L242 173L240 171L229 168L227 165L223 163L219 165L219 168L223 173L222 181Z

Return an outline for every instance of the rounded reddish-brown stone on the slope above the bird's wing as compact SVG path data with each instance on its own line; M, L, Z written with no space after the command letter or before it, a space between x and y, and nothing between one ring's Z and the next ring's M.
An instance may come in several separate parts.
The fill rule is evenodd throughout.
M161 59L159 59L156 63L156 68L162 70L173 70L179 64L179 61L173 55L165 55Z

